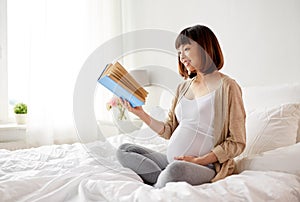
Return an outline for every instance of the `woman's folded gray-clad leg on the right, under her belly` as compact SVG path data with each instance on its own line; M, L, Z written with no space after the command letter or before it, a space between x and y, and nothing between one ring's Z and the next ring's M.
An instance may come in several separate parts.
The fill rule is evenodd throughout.
M154 186L162 188L168 182L180 181L191 185L200 185L209 182L215 175L216 172L206 166L186 161L173 161L161 172Z

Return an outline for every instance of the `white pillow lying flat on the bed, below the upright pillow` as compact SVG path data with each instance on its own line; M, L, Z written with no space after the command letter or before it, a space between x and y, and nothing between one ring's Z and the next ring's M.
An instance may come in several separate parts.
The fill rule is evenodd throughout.
M300 143L245 157L236 162L236 172L244 170L280 171L300 176Z

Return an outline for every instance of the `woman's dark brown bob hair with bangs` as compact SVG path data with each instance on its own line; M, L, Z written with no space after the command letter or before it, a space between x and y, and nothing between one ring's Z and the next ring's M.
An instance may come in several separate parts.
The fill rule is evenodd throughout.
M216 69L220 70L223 67L224 58L220 44L215 34L208 27L195 25L182 30L175 41L176 49L181 45L191 44L190 40L193 40L200 45L201 69L204 74L209 74ZM189 77L188 71L180 62L179 56L178 70L179 74L185 79Z

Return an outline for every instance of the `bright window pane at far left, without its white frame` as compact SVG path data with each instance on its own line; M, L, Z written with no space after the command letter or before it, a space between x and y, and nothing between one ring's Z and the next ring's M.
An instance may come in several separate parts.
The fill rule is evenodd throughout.
M7 2L8 118L13 118L13 106L16 103L28 104L30 19L26 15L27 4L27 1Z

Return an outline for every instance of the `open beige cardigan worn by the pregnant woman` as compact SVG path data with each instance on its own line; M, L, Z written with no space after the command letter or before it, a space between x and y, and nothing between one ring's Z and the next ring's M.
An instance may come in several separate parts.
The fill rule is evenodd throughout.
M215 96L215 147L212 152L218 161L214 163L216 176L211 180L215 182L231 175L234 171L233 158L242 153L246 143L245 110L242 92L235 80L221 74L220 87ZM175 116L175 107L191 85L191 80L184 81L177 87L168 119L160 136L170 139L178 126Z

